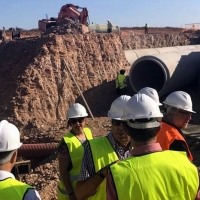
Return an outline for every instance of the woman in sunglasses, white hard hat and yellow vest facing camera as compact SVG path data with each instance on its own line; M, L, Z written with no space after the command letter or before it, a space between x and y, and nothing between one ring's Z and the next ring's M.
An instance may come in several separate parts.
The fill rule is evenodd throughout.
M76 200L75 185L83 158L83 142L92 139L91 130L85 127L87 116L86 109L79 103L71 105L67 111L68 127L71 126L71 130L62 138L58 147L58 200Z

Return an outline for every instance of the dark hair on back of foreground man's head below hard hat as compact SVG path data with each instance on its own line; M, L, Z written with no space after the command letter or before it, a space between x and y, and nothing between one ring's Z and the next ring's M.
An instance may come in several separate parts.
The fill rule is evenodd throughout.
M137 122L148 122L148 119L140 119L140 120L135 120ZM160 131L160 126L155 127L155 128L146 128L146 129L136 129L136 128L131 128L127 124L125 125L126 129L128 130L128 134L130 137L136 141L136 142L148 142Z

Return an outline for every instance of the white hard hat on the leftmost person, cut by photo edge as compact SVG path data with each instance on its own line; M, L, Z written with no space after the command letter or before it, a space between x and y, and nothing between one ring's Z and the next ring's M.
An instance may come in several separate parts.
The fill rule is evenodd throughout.
M0 152L13 151L21 145L18 128L8 121L2 120L0 122Z

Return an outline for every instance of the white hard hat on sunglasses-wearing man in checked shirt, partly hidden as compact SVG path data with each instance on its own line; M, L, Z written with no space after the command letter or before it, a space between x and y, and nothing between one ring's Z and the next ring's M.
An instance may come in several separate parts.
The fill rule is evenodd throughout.
M108 117L111 119L121 120L124 106L130 98L131 97L128 95L122 95L118 97L117 99L115 99L113 103L111 104L110 110L108 111Z

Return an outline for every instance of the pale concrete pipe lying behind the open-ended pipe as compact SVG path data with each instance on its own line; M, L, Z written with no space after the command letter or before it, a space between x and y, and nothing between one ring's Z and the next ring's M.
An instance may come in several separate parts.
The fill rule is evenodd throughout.
M132 66L132 64L140 57L147 55L156 55L161 53L183 51L183 50L195 50L200 49L200 45L187 45L187 46L174 46L174 47L163 47L153 49L137 49L137 50L126 50L124 51L126 59Z

